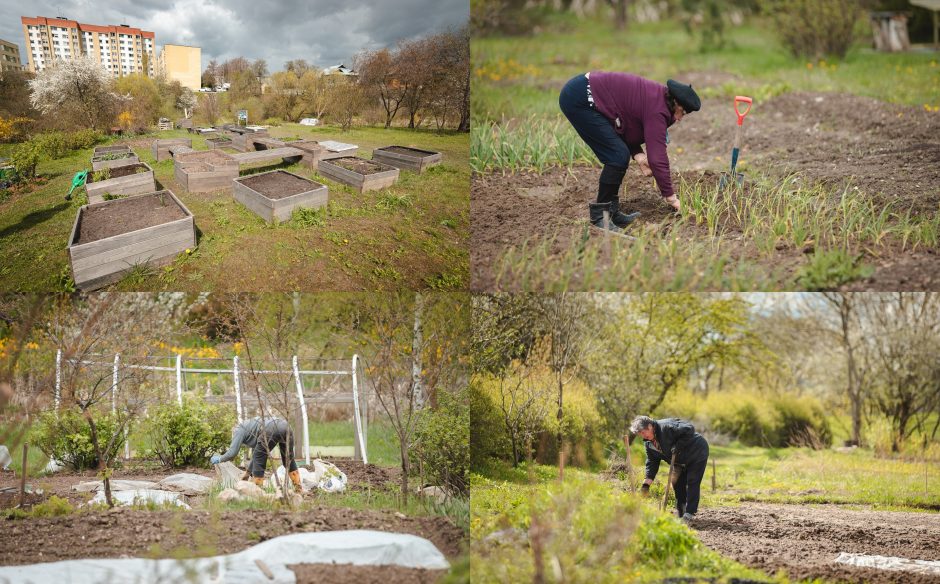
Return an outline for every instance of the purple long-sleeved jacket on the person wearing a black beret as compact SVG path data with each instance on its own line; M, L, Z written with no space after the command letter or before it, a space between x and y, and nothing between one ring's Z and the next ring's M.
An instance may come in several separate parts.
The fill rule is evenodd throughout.
M666 107L666 86L628 73L591 71L591 94L594 106L610 120L614 131L634 156L646 144L653 177L663 197L674 194L666 155L666 128L675 118ZM620 119L620 127L615 120Z

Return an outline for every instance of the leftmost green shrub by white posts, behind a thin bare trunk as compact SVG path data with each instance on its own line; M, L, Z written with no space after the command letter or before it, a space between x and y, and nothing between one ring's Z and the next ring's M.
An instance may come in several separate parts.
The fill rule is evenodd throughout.
M105 456L113 459L124 446L120 418L112 414L92 414L98 434L98 444L105 449L111 439L114 443ZM85 415L77 409L61 410L43 414L32 430L32 442L49 458L58 460L67 467L81 471L98 468L98 456L91 439L91 427Z

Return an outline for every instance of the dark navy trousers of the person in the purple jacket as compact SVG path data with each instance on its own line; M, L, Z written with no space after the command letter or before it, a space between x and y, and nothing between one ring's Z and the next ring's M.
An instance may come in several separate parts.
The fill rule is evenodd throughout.
M626 170L630 164L630 149L614 131L610 120L591 107L587 89L588 79L583 74L573 77L562 88L558 105L601 164Z

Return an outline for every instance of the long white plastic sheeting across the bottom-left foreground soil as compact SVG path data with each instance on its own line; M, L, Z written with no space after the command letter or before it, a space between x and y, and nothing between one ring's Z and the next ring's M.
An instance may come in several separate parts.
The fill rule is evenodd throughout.
M255 563L261 560L274 578ZM0 582L206 582L293 584L292 564L353 564L446 570L444 555L430 541L404 533L321 531L283 535L227 556L193 560L68 560L0 567Z

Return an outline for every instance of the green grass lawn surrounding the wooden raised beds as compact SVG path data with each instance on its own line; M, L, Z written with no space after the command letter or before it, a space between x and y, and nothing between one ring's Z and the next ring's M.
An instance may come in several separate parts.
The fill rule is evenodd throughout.
M243 169L242 174L285 168L329 188L324 212L295 216L272 226L234 201L230 193L191 194L173 177L173 162L155 163L154 138L205 140L184 130L130 138L141 161L154 168L158 187L172 190L195 215L197 246L164 268L135 268L118 290L376 290L464 288L469 278L469 138L431 131L310 128L285 124L271 128L276 138L300 137L357 144L360 156L374 148L403 145L442 152L443 163L424 174L403 171L399 182L359 194L294 165ZM120 141L120 140L117 140ZM12 145L0 145L6 156ZM59 160L42 160L47 182L0 202L0 279L19 291L71 289L66 246L79 202L64 200L72 176L88 168L91 149Z

